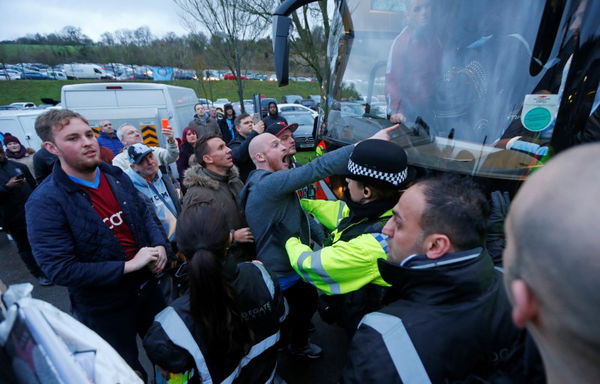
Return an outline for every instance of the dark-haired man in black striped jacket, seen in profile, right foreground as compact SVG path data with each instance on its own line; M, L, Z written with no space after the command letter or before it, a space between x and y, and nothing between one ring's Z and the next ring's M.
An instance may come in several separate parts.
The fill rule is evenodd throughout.
M510 364L520 334L482 248L487 210L474 183L457 177L404 192L383 229L389 259L378 261L389 305L363 318L342 382L487 380Z

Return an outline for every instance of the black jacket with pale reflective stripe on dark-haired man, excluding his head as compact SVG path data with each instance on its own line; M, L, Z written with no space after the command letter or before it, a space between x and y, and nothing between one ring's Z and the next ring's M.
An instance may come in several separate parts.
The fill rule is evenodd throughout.
M442 383L488 377L517 342L502 273L481 248L422 255L404 267L383 259L391 304L365 316L344 383Z

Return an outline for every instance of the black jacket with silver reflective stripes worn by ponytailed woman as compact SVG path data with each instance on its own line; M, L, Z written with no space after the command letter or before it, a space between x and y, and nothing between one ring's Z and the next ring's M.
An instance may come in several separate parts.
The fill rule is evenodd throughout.
M254 335L254 345L246 359L214 356L207 349L206 337L201 326L194 322L190 313L190 295L176 299L155 319L144 338L144 348L152 362L169 372L195 370L190 383L212 380L221 383L231 376L232 383L271 382L277 366L277 342L280 322L285 319L285 306L279 285L259 262L244 262L234 267L235 277L231 281L237 293L237 305L242 318ZM175 315L174 315L175 314ZM179 317L200 350L192 356L188 348L173 340L169 324ZM178 320L175 320L178 321ZM189 340L188 340L189 341ZM200 366L199 366L200 365ZM239 368L239 370L238 370Z

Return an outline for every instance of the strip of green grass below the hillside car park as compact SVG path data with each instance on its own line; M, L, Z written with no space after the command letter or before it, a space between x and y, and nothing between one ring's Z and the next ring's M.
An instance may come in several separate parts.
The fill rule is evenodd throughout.
M60 89L67 84L90 83L93 80L13 80L0 81L0 105L10 104L17 101L31 101L41 103L41 98L60 99ZM105 81L102 81L105 82ZM238 100L235 81L203 82L195 80L175 80L163 82L164 84L178 85L192 88L198 97L211 100L226 97L231 101ZM319 84L309 82L294 82L286 87L278 87L276 82L271 81L244 81L244 98L251 98L253 94L261 93L267 97L281 100L283 95L308 95L319 94Z

